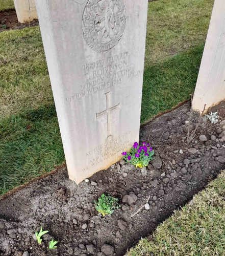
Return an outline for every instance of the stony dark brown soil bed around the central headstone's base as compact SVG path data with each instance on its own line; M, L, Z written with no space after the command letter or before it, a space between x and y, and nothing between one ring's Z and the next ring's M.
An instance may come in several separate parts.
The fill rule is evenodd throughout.
M225 167L225 122L211 124L190 113L189 104L141 127L140 141L150 142L156 152L146 170L120 161L77 186L62 167L2 199L0 254L100 256L107 244L112 246L105 247L107 255L111 249L122 255L151 233ZM214 111L220 113L223 105ZM121 205L105 218L93 205L102 193L118 197ZM128 202L122 202L126 195ZM148 197L150 209L132 218ZM49 234L39 246L33 234L40 226ZM47 249L51 237L59 241L52 251Z

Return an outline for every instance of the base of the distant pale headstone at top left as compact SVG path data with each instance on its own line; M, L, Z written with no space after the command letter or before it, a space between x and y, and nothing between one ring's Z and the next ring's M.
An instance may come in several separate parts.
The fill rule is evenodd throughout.
M37 19L35 0L13 0L16 15L20 23L31 22Z

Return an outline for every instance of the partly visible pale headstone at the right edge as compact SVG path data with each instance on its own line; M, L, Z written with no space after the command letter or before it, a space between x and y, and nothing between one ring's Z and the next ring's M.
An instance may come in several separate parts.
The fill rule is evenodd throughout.
M203 112L225 99L225 1L215 0L192 107Z

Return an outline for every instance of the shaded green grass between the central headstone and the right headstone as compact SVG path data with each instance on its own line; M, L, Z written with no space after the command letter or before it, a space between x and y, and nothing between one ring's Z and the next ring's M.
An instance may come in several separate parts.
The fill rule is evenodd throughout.
M145 69L141 123L191 97L203 50L200 45Z

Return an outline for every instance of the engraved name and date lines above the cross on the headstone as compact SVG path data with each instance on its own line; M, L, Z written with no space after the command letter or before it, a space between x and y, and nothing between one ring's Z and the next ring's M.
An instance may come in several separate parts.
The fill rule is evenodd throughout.
M143 76L143 70L137 69L130 61L130 54L122 52L106 59L85 63L83 66L84 83L80 84L79 92L66 98L67 103L93 95L99 91L111 91L122 86L126 79Z

